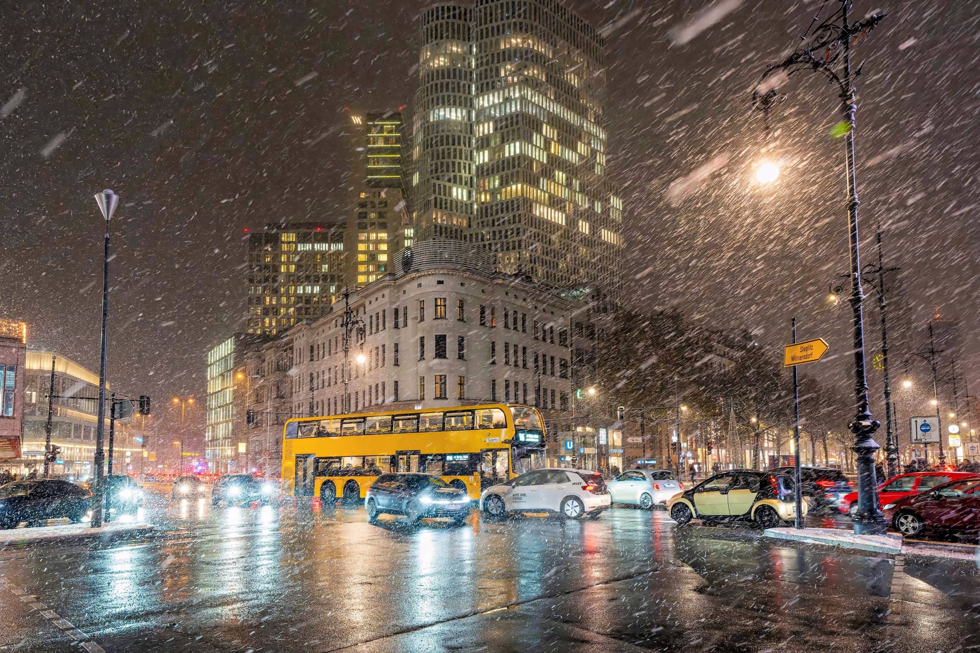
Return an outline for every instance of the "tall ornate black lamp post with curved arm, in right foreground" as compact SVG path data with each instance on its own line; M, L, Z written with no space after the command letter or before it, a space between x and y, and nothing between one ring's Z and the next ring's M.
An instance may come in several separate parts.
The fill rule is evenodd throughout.
M852 85L851 46L870 32L883 16L871 15L864 21L851 23L848 13L852 0L837 0L840 8L822 23L817 12L803 36L803 44L780 62L768 67L753 92L753 102L768 124L769 110L780 99L777 85L780 80L804 70L823 74L840 91L843 119L832 134L844 136L844 161L847 179L848 230L851 253L851 309L854 322L855 406L857 414L848 424L855 436L852 449L858 459L858 511L854 516L856 535L882 535L887 530L885 518L878 508L877 480L874 473L874 453L880 448L872 439L881 423L871 419L867 398L867 379L864 374L864 327L860 279L860 250L858 238L858 174L855 167L855 114L858 111L855 88ZM822 5L821 5L822 9ZM838 72L840 71L840 72Z

